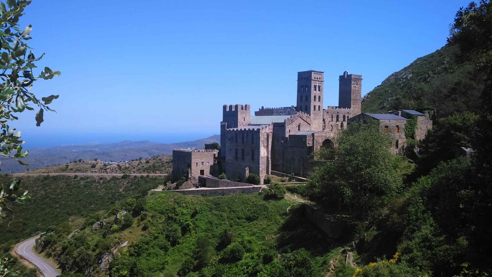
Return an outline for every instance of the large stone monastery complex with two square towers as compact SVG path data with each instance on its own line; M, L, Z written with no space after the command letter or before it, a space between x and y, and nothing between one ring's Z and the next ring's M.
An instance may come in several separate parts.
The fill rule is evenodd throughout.
M306 176L309 155L321 147L332 147L333 139L354 120L372 118L394 141L393 152L405 147L405 122L417 117L415 138L424 139L432 121L413 110L392 114L361 113L362 75L339 76L338 106L323 106L321 71L297 73L296 105L264 108L251 115L246 105L224 105L220 123L220 150L176 149L173 151L173 181L183 176L217 175L245 181L249 173L261 182L271 171ZM207 147L209 148L209 147Z

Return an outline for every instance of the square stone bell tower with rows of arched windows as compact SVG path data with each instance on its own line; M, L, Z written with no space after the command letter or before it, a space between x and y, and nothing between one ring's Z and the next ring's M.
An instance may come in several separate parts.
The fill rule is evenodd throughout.
M323 130L323 82L322 71L297 72L296 110L311 117L312 130Z

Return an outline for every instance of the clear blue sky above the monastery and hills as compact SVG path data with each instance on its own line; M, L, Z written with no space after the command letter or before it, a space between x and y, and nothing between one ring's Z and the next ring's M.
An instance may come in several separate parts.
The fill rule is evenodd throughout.
M15 126L31 147L199 139L219 133L223 104L295 105L309 69L337 105L344 70L371 91L444 46L468 2L34 0L21 27L62 75L33 92L60 98L41 127L34 112Z

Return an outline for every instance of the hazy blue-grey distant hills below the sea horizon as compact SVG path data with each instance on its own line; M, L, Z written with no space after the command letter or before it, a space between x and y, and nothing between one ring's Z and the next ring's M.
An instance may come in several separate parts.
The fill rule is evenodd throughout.
M65 164L67 162L99 159L102 161L125 161L148 158L157 155L170 155L176 148L203 148L205 143L220 142L219 135L195 141L180 143L156 143L150 141L122 141L118 143L55 146L29 149L23 159L29 166L22 166L16 160L2 159L1 173L17 173L41 167Z

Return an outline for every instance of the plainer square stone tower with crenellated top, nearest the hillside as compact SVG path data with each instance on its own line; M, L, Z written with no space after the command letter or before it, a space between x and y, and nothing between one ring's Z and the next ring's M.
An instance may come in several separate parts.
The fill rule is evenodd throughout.
M338 107L349 108L350 117L361 113L362 104L362 75L343 72L338 79Z

